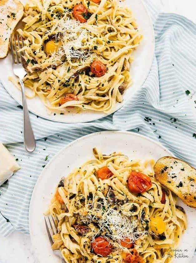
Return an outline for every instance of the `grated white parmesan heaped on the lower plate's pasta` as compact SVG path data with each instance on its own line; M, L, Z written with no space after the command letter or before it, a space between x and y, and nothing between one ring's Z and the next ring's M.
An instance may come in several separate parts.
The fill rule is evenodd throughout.
M117 205L113 205L107 198L98 201L99 197L93 196L92 204L88 203L88 215L81 217L81 221L85 224L96 222L99 230L93 236L100 235L105 232L107 237L118 243L120 248L120 241L129 238L130 243L143 237L148 231L139 228L138 220L131 216L124 215L120 212ZM95 205L96 204L96 207ZM113 207L112 207L113 206Z

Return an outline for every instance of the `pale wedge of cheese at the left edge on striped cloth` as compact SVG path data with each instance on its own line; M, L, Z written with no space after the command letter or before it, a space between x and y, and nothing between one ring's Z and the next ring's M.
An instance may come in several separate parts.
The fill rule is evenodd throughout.
M0 184L10 178L20 166L10 154L8 149L0 143Z

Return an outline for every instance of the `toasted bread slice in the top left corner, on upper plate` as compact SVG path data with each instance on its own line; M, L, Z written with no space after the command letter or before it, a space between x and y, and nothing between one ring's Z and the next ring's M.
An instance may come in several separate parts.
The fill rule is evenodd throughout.
M23 17L24 7L18 0L0 1L0 59L8 54L10 36Z

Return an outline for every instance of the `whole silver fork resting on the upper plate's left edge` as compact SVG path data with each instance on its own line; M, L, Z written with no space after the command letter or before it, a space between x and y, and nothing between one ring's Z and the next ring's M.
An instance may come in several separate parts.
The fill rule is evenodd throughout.
M21 42L22 42L22 47L24 47L24 42L22 36L20 36ZM10 37L10 49L11 49L11 54L12 54L12 66L13 66L13 72L14 74L19 78L19 82L21 85L21 90L22 90L22 99L23 99L23 121L24 121L24 128L23 128L23 133L24 133L24 147L27 152L33 152L35 150L35 137L33 135L33 130L31 127L31 122L29 118L29 113L28 113L28 107L27 107L27 101L26 101L26 96L24 92L24 83L23 83L23 78L27 74L25 69L23 68L23 56L25 55L24 51L18 52L18 50L21 49L20 45L20 39L17 35L17 40L18 40L18 46L16 44L16 39L14 39L14 48L15 48L15 53L16 53L16 59L14 56L13 52L13 44L12 44L12 36ZM19 55L18 55L19 54Z

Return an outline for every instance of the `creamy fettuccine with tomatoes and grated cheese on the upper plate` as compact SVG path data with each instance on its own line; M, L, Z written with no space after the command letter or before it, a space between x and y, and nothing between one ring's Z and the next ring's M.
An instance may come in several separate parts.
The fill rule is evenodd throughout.
M123 101L142 39L130 9L118 0L31 0L23 22L27 96L50 111L110 113Z

